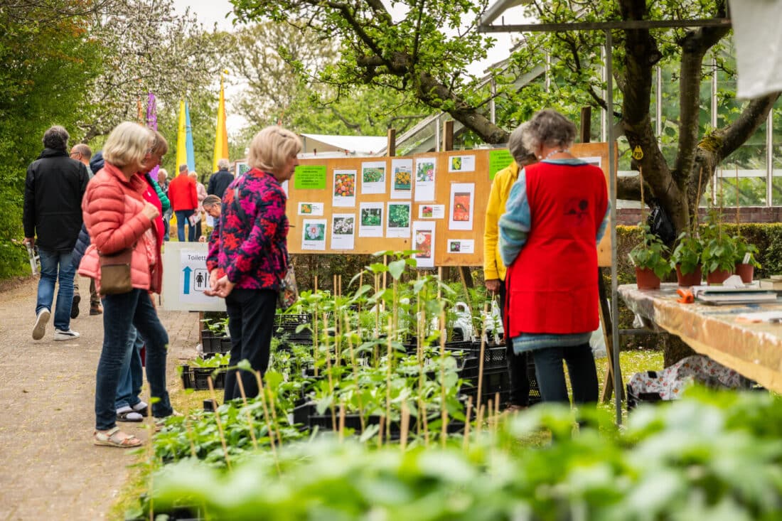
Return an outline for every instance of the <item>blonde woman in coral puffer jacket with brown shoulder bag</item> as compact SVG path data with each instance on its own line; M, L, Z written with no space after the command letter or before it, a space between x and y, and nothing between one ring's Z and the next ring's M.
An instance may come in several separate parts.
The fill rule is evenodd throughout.
M95 383L96 445L138 447L141 440L120 431L114 400L120 369L127 358L131 325L146 340L146 374L152 415L174 414L166 390L168 335L148 292L160 293L160 207L145 200L149 185L137 174L148 170L153 135L136 123L117 125L103 147L106 164L90 181L81 209L92 239L79 273L95 278L101 292L99 255L131 250L131 289L103 296L103 349ZM157 229L157 234L156 234ZM157 235L157 237L156 237Z

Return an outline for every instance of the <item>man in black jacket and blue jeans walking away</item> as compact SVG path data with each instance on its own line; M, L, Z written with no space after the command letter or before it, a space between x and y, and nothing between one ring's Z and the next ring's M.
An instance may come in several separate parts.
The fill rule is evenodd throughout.
M27 167L24 185L24 242L38 241L41 280L35 304L33 339L41 340L52 315L55 283L59 279L55 307L54 340L71 340L74 298L74 263L71 252L81 229L81 198L87 189L84 165L68 156L68 132L56 125L44 134L44 151Z

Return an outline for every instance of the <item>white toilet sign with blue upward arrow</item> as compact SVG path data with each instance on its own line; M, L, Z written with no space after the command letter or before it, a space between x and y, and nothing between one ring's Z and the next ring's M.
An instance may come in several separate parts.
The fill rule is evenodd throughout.
M225 300L208 296L206 243L166 243L163 248L163 309L225 311Z

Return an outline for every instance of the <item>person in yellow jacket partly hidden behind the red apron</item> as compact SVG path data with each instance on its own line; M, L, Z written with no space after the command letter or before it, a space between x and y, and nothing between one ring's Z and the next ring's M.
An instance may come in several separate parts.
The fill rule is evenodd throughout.
M518 171L528 164L536 162L536 158L522 145L521 124L508 138L508 149L513 156L513 163L503 168L492 181L489 192L489 203L486 206L486 226L483 232L483 279L486 289L500 296L500 310L504 314L507 293L505 292L505 265L500 257L499 232L497 221L505 213L505 203L511 187L518 179ZM508 409L518 410L529 404L529 379L527 378L526 353L515 354L511 340L505 339L508 348L508 375L511 381L511 396Z

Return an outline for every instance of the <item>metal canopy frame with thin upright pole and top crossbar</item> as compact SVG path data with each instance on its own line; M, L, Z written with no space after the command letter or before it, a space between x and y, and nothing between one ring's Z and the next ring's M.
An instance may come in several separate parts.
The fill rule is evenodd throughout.
M493 6L494 7L494 6ZM708 20L622 20L612 22L570 22L570 23L527 23L521 25L491 25L490 22L496 20L499 13L493 10L492 20L489 23L480 21L478 32L497 33L497 32L557 32L557 31L604 31L605 33L605 75L608 87L606 89L606 105L609 109L608 117L612 118L612 107L614 106L614 75L613 75L613 36L611 31L614 29L665 29L665 28L686 28L686 27L725 27L730 26L728 18L712 18ZM616 161L611 144L615 142L614 124L609 120L608 125L608 179L609 190L611 192L611 317L616 320L619 315L619 303L617 302L617 279L616 279ZM616 424L622 425L622 382L619 379L619 328L613 325L612 329L612 368L614 372L614 397L616 408Z

